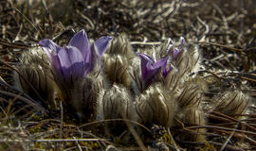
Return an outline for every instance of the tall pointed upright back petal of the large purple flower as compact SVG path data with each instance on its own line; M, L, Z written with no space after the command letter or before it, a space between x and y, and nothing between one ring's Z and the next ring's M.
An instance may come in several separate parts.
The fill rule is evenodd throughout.
M68 46L74 46L78 48L82 53L82 58L85 59L86 53L89 50L89 42L86 36L86 32L82 29L78 32L68 43Z

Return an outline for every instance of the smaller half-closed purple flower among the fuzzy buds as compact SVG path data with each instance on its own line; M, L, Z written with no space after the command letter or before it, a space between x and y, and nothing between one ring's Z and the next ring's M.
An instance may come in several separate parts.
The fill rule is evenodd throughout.
M155 75L159 72L161 67L164 77L166 77L168 73L172 70L172 68L170 68L169 70L166 69L168 57L164 59L159 59L155 62L155 60L148 55L140 53L137 53L137 55L141 59L140 66L143 81L147 84L150 84L152 82L152 79L155 78Z

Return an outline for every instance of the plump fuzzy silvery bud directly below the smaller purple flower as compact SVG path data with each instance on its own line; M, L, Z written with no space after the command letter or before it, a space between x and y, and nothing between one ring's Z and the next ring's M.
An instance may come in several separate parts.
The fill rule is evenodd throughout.
M155 83L137 96L135 107L138 122L142 125L170 127L174 125L178 104L162 83Z

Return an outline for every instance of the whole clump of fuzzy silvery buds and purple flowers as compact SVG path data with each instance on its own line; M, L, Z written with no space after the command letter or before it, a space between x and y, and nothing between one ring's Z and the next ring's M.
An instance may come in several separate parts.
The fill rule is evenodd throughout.
M206 82L196 74L191 76L200 68L201 55L183 37L137 53L125 35L101 37L90 45L84 30L64 47L48 39L39 44L38 49L24 53L18 69L44 95L50 109L58 109L57 94L64 100L64 108L75 109L85 120L82 122L93 114L96 120L129 119L145 126L206 125L202 103ZM32 95L18 74L14 80L19 89ZM251 102L243 92L225 92L215 100L211 109L235 114L245 113ZM120 121L105 126L107 133L117 135L126 129ZM143 132L140 127L137 130ZM206 128L195 128L178 137L204 141L206 132Z

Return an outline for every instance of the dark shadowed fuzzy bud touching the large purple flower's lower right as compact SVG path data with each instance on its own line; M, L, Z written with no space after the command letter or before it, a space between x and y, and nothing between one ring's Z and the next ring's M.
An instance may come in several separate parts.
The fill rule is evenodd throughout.
M72 94L72 105L83 119L89 119L91 114L96 117L99 106L99 94L110 89L109 81L102 73L102 68L94 69L85 77L80 77L74 83Z

